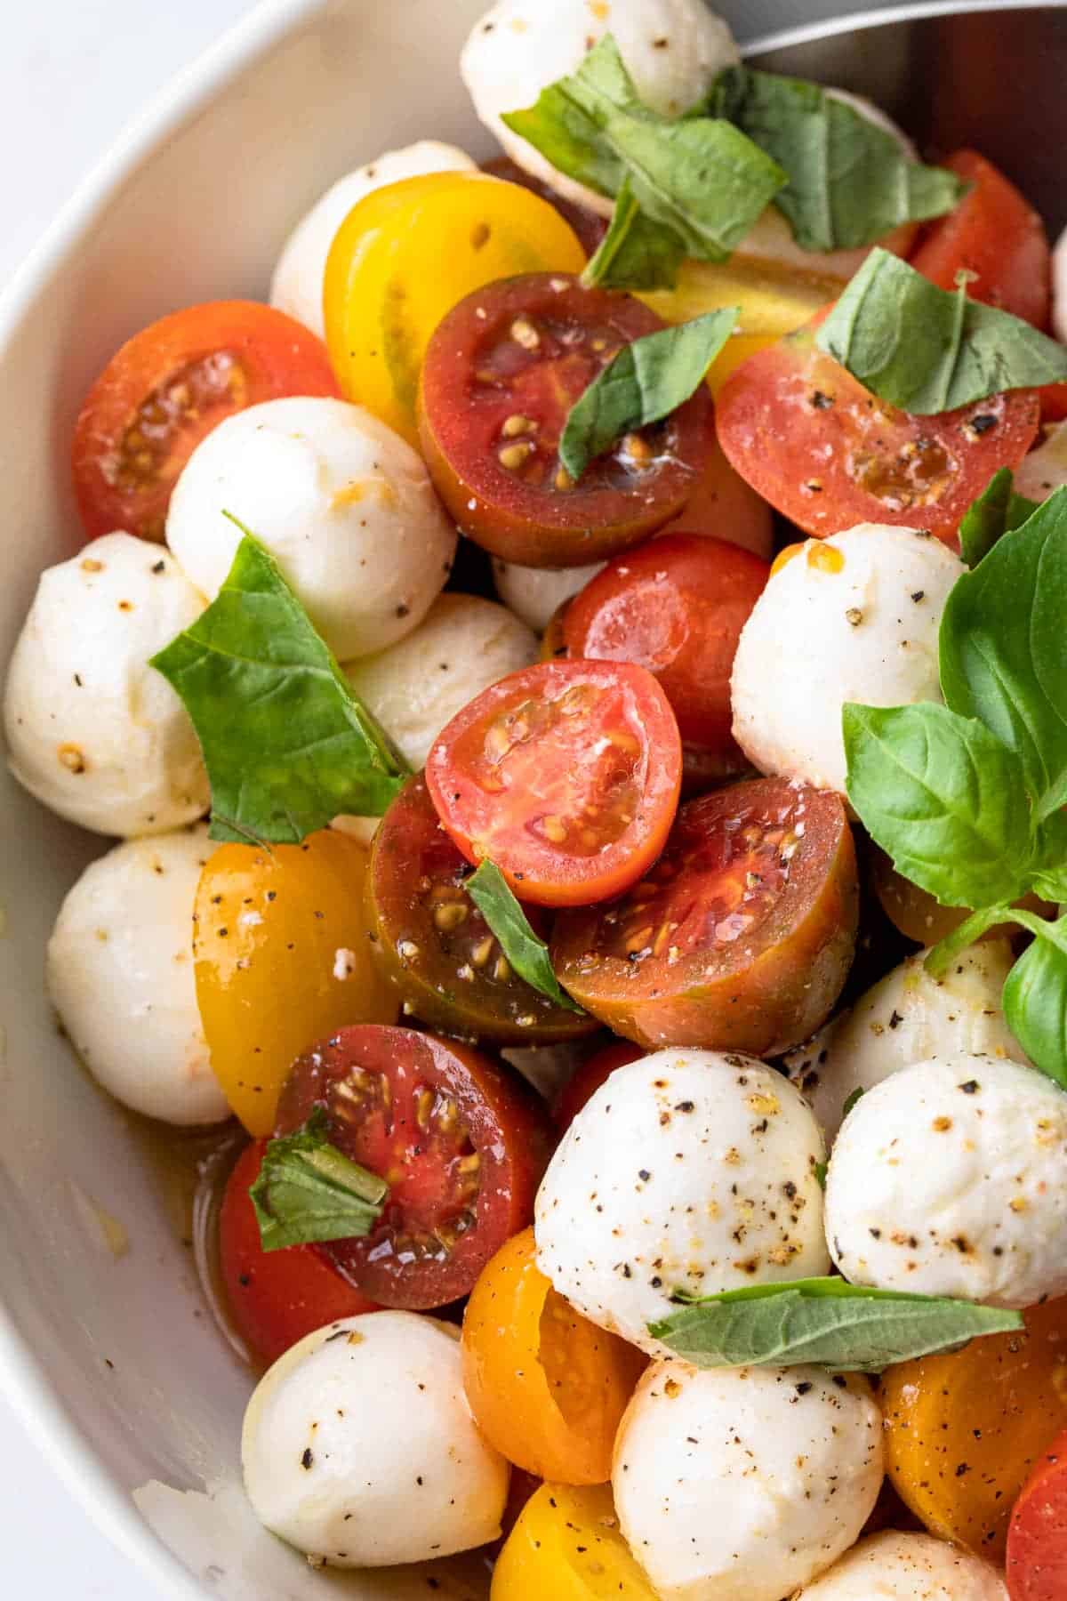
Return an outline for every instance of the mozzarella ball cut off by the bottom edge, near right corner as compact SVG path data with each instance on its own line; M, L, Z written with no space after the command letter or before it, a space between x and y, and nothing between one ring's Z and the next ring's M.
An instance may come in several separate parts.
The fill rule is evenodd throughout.
M931 1534L872 1534L795 1601L1008 1601L981 1556Z

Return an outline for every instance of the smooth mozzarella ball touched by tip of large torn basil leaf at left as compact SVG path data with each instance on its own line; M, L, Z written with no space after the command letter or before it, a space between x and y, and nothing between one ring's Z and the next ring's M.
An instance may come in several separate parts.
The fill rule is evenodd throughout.
M418 628L456 552L421 458L347 400L266 400L197 445L174 485L166 543L211 597L242 538L224 511L277 559L341 661Z

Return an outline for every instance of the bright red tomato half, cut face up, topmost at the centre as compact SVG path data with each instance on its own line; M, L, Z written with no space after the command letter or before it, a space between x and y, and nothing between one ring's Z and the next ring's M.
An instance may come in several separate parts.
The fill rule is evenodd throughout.
M662 850L681 740L645 668L541 661L453 717L426 783L469 861L488 857L520 900L585 906L621 895Z

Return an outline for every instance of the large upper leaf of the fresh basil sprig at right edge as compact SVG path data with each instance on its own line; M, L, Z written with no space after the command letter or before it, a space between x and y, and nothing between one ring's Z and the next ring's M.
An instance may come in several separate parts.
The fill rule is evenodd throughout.
M1017 752L1038 821L1067 802L1067 488L953 586L941 688Z

